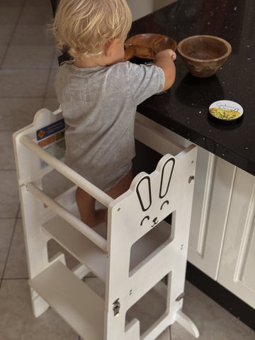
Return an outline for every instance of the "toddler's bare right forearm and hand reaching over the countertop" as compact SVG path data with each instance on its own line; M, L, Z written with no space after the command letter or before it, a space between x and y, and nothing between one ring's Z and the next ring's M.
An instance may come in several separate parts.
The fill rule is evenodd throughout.
M161 51L154 57L154 64L161 67L165 75L165 85L162 91L166 91L174 84L176 76L174 60L176 60L176 53L170 49Z

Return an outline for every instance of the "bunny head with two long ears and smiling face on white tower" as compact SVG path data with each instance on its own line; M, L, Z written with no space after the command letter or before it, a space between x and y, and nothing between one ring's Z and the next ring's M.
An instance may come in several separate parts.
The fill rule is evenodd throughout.
M170 192L171 177L174 171L175 159L166 155L162 157L157 165L156 171L150 176L144 176L137 183L136 193L142 211L140 226L146 225L153 228L169 215L168 194Z

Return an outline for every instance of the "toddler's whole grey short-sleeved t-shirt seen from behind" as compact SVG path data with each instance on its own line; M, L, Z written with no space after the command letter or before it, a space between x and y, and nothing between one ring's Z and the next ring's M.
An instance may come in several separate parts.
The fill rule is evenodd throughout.
M132 167L137 105L164 89L155 65L120 62L79 68L64 63L55 79L66 132L65 163L103 191Z

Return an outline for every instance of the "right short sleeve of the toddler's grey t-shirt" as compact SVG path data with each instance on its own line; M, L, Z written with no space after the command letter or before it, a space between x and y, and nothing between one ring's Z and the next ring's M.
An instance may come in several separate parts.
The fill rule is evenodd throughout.
M127 62L128 83L135 105L164 89L165 77L161 67L156 65L132 64Z

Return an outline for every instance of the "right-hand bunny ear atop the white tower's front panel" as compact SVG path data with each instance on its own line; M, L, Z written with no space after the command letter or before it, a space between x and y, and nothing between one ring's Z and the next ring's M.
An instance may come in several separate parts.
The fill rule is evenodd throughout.
M159 161L159 164L157 166L161 168L161 179L160 179L160 187L159 187L159 198L164 198L166 196L166 193L169 191L169 185L171 182L171 176L174 171L174 164L175 159L174 157L170 157L170 155L165 155L162 157L162 159Z

